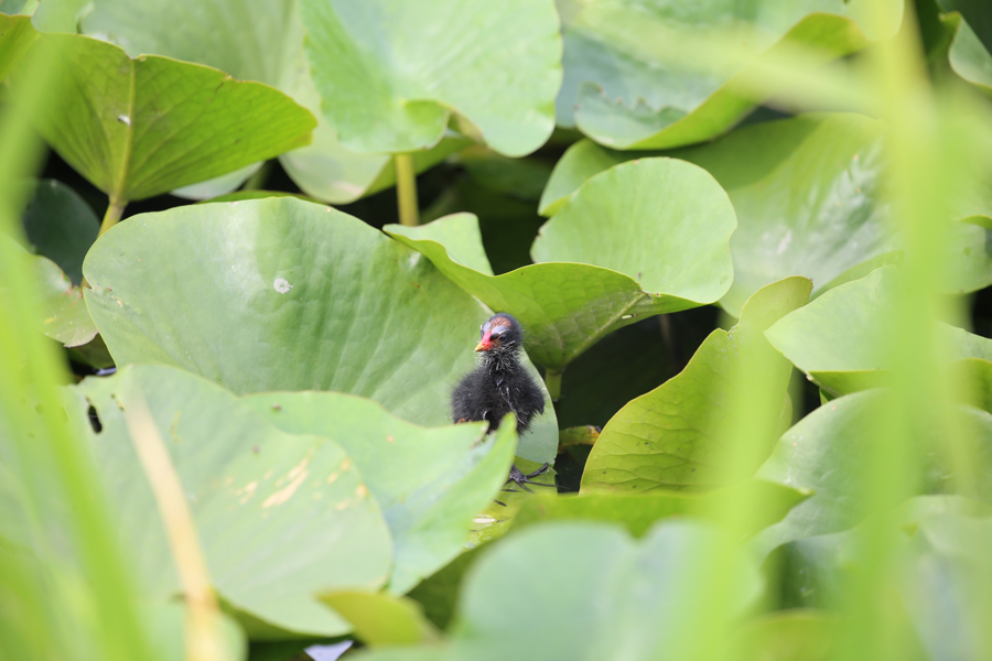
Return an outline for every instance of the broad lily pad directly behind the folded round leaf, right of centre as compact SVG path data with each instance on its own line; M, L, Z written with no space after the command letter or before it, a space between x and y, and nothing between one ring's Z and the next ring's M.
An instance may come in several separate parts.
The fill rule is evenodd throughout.
M708 170L737 214L731 238L734 282L720 301L737 316L755 291L788 275L813 281L813 297L898 259L882 193L881 122L859 115L815 113L734 131L711 144L668 152ZM561 207L589 177L635 154L589 141L565 153L541 198L541 213ZM949 230L951 292L992 284L992 214L986 195L957 201Z

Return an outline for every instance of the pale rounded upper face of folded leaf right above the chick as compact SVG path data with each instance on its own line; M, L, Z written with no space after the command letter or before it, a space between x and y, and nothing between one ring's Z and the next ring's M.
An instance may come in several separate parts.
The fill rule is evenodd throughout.
M734 279L727 242L736 227L730 199L704 170L640 159L583 184L541 228L531 253L537 262L612 269L656 299L709 303Z

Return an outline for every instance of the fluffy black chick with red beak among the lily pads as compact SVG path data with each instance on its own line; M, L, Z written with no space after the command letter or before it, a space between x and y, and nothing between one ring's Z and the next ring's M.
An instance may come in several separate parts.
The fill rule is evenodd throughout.
M517 433L522 434L535 414L544 412L540 388L517 358L522 339L520 324L506 313L482 325L482 340L475 350L484 351L483 359L465 375L451 397L455 422L485 420L492 431L504 415L514 413Z

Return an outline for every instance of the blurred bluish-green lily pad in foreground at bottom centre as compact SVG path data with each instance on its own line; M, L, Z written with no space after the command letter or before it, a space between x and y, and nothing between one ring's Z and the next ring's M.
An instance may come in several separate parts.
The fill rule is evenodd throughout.
M470 567L446 648L396 648L356 659L489 661L520 650L544 661L658 659L692 644L681 622L687 603L698 607L699 592L711 585L711 562L726 563L726 599L707 614L713 627L725 626L758 595L753 564L737 554L718 561L723 542L718 530L690 521L659 523L639 540L602 523L535 525ZM425 655L431 650L434 655Z

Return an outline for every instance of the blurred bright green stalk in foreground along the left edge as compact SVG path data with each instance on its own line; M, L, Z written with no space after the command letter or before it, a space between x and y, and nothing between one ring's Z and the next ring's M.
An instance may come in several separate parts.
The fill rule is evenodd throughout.
M41 144L29 126L52 100L50 82L60 62L53 50L35 50L28 57L22 73L33 85L11 95L0 119L0 234L10 236L22 235L15 184L36 170L41 156ZM65 364L55 346L34 328L33 321L40 318L36 283L23 260L8 253L4 246L9 242L0 242L0 429L9 452L4 460L20 478L26 500L20 505L33 519L34 531L60 529L64 543L56 552L43 534L34 534L30 542L36 562L18 563L30 573L17 577L0 573L0 609L29 609L20 619L25 626L7 631L14 633L13 639L0 637L0 657L80 658L80 641L69 635L76 626L85 627L87 649L103 659L158 659L138 614L129 563L93 458L78 431L65 422L58 390L58 383L68 380ZM46 507L53 499L72 508L53 511ZM0 564L13 568L3 562L9 560L19 561L7 556ZM44 592L23 595L21 588L32 582L43 584ZM8 590L8 585L14 589ZM34 619L37 611L47 617ZM56 620L71 626L52 626ZM11 650L29 649L30 655L8 655Z

